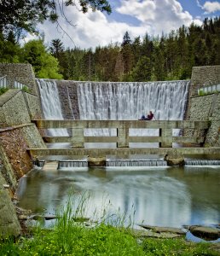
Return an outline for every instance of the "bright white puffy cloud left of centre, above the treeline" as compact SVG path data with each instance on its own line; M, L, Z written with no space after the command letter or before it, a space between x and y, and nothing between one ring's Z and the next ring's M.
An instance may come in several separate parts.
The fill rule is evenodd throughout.
M70 26L65 20L60 20L61 27L72 38L72 41L81 49L90 47L105 46L111 42L121 42L124 32L129 31L134 37L144 35L146 28L142 26L130 26L125 22L108 21L106 15L100 11L88 11L83 14L73 7L69 7L66 13L68 20L72 20L76 26ZM45 41L51 42L54 38L61 38L65 46L74 47L67 34L56 29L55 24L49 21L38 26L38 29L44 33Z

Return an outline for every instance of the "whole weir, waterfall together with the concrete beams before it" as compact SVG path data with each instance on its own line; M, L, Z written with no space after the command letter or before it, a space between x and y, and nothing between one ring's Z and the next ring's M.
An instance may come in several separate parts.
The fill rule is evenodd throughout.
M42 105L46 106L42 106L46 120L32 121L39 129L50 131L44 141L51 144L48 149L28 149L32 155L219 155L218 148L201 148L210 126L208 121L183 121L188 80L98 83L38 79L38 87ZM47 108L51 113L47 113ZM149 110L156 120L137 120ZM182 136L185 129L198 130L195 133L198 136ZM53 143L69 143L69 146L54 148ZM187 148L189 144L191 147ZM142 163L146 165L148 161ZM133 164L141 165L141 161ZM162 161L159 164L163 165ZM69 165L74 165L74 160Z

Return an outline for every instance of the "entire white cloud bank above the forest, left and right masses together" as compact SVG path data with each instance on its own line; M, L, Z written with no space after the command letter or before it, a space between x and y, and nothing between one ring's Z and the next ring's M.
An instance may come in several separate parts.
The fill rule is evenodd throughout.
M107 16L100 11L87 14L79 12L74 7L68 7L66 16L76 26L70 26L67 21L60 20L62 29L72 38L74 44L81 49L105 46L107 44L122 42L124 32L128 31L131 38L143 37L146 32L149 35L161 35L161 32L171 32L178 27L190 25L193 21L201 25L200 20L194 20L192 15L182 9L177 0L121 0L120 7L116 11L122 15L130 15L139 20L138 25L132 25L122 21L107 20ZM56 29L55 24L45 22L39 25L40 31L44 32L45 41L49 44L52 39L60 38L63 44L70 48L74 47L72 41L61 29Z

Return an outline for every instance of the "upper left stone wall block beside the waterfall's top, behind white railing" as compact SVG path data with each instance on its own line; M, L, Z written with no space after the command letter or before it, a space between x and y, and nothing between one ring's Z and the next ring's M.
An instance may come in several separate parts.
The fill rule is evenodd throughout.
M2 76L7 76L10 88L13 88L14 81L17 81L25 84L33 94L38 94L31 64L0 63L0 77Z

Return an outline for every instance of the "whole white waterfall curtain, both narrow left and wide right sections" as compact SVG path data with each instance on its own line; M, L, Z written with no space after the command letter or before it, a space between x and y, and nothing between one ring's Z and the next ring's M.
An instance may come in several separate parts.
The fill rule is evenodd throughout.
M57 85L53 80L38 79L45 119L63 119ZM188 80L162 82L75 82L79 119L137 120L151 110L156 119L183 119L188 98ZM66 95L67 94L67 95ZM72 97L67 90L62 101L72 109ZM58 133L57 133L58 132ZM86 136L116 136L116 129L85 129ZM179 130L174 131L177 136ZM158 136L157 129L130 129L130 136ZM67 130L50 130L51 136L67 136ZM130 143L132 147L133 143Z

